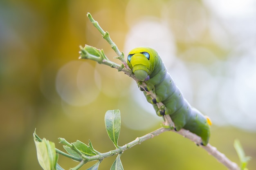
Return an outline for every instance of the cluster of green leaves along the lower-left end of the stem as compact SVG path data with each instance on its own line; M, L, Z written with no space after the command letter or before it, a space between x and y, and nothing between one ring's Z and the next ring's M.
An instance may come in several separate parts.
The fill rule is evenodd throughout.
M40 166L44 170L64 170L60 165L58 165L58 154L69 157L74 161L79 161L80 163L74 167L70 168L71 170L78 170L85 163L89 161L98 160L92 167L88 168L88 170L97 170L99 168L99 164L101 161L113 155L117 155L116 160L112 164L110 170L123 170L123 166L121 163L121 154L124 152L123 147L120 148L117 145L120 130L121 130L121 114L119 110L108 110L105 114L105 125L109 138L115 145L116 149L101 153L95 150L92 146L92 142L89 140L89 144L86 145L83 142L77 140L75 142L69 143L64 138L58 138L60 143L63 144L63 148L67 153L62 152L55 148L55 144L47 139L40 139L38 135L36 135L36 131L34 132L34 142L36 144L36 151L38 162Z

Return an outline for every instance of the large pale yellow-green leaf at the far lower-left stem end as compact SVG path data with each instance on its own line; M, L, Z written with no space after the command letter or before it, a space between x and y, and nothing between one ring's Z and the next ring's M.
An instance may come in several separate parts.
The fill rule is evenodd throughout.
M44 170L55 170L58 155L56 154L55 144L45 138L38 141L38 136L34 132L34 142L36 144L37 159Z

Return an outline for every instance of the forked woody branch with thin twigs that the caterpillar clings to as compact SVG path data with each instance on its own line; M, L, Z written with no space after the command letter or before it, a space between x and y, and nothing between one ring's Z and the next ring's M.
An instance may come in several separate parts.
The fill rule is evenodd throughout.
M121 60L122 64L124 65L124 67L120 67L120 66L117 66L118 64L116 64L115 62L111 62L110 60L107 59L106 55L103 54L103 50L98 50L92 46L85 46L84 49L81 48L81 51L80 51L80 59L89 59L89 60L94 60L96 62L98 62L99 64L106 64L108 66L111 66L112 68L116 68L118 71L123 71L125 74L127 74L128 76L132 77L132 79L134 79L138 86L140 86L141 88L143 88L145 90L146 88L146 83L145 82L141 82L139 79L137 79L135 77L135 75L132 73L132 71L130 70L130 68L128 67L127 63L126 63L126 60L124 59L124 53L121 53L116 44L111 40L108 32L105 32L103 31L103 29L99 26L99 23L97 21L95 21L93 18L92 18L92 15L90 13L88 13L88 18L90 19L90 21L92 22L92 24L99 30L99 32L101 33L101 35L103 36L103 38L105 40L108 41L108 43L110 44L111 48L114 49L114 51L117 53L118 55L118 59ZM101 51L99 53L101 53L101 55L105 56L95 56L93 55L92 53L90 53L90 50L91 49L96 49L97 51ZM92 55L91 55L92 54ZM102 58L105 58L104 60ZM107 59L107 60L106 60ZM146 91L146 90L145 90ZM156 98L156 94L153 93L152 91L146 91L147 95L150 95L150 97L152 97L152 99ZM165 105L162 103L162 102L159 102L157 103L157 106L160 110L164 110L165 109ZM174 127L174 123L173 121L171 120L171 117L170 115L164 115L164 119L166 121L166 124L165 126L170 126L171 128ZM190 139L191 141L195 142L195 144L200 144L202 142L202 139L200 137L198 137L197 135L195 135L194 133L190 132L189 130L185 130L185 129L181 129L179 131L175 131L173 129L167 129L166 128L159 128L158 130L160 130L160 132L164 132L164 131L168 131L168 130L171 130L173 132L176 132L188 139ZM137 138L139 139L138 141L132 141L130 142L129 144L125 145L125 146L122 146L122 147L132 147L134 146L135 144L137 144L136 142L142 142L144 141L144 139L150 139L152 137L154 137L155 135L158 135L158 130L157 133L154 132L151 132L141 138ZM161 131L162 130L162 131ZM150 137L150 135L153 135L152 137ZM144 138L145 137L145 138ZM229 168L229 170L240 170L240 168L238 167L238 165L232 161L230 161L224 154L222 154L221 152L219 152L215 147L211 146L210 144L207 144L207 146L202 146L202 145L199 145L200 147L204 148L205 150L207 150L207 152L210 154L210 155L213 155L213 157L215 157L220 163L222 163L223 165L225 165L227 168ZM120 152L119 148L117 148L116 150L112 150L110 151L111 153L114 153L114 154L117 154L118 151ZM111 155L110 153L106 152L105 153L106 155ZM96 156L95 156L96 157ZM90 157L90 159L92 159L92 157ZM95 159L96 160L96 159Z

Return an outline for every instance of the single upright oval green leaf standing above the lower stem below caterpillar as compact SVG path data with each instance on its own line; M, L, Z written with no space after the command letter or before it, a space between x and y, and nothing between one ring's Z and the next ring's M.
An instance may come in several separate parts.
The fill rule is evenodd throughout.
M121 129L121 114L120 110L108 110L105 114L105 126L109 138L116 148L118 148L117 141Z

